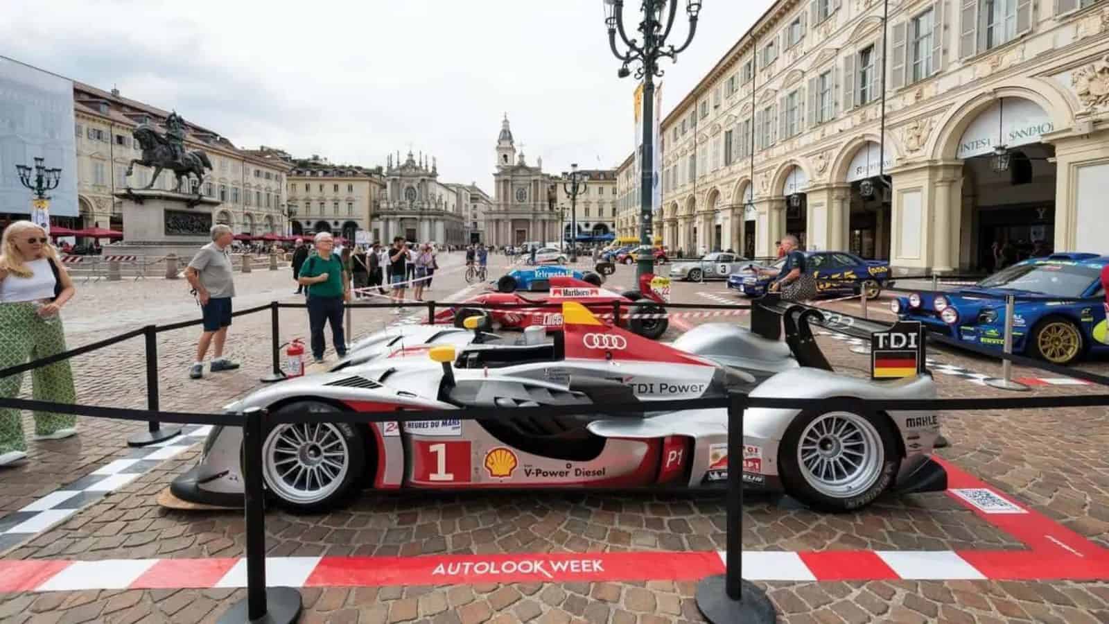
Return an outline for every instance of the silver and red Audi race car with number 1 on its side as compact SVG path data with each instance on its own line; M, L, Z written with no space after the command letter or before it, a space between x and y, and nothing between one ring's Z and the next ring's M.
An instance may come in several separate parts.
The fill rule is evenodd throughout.
M936 396L927 372L896 382L837 374L804 314L798 330L788 313L757 310L774 318L774 330L755 318L762 335L711 323L671 345L603 323L574 302L563 304L562 329L535 328L523 344L484 332L467 340L456 328L387 330L360 343L366 353L353 353L338 370L267 386L225 410L318 414L315 423L267 427L262 472L283 505L321 511L364 487L650 490L722 487L726 481L725 409L617 420L591 405L724 396L731 390L807 399ZM785 343L777 340L783 319ZM471 321L469 329L479 319ZM338 411L380 416L537 405L581 405L581 414L363 425L327 420ZM821 510L855 510L885 491L946 489L946 473L930 459L938 432L932 412L750 409L740 465L747 486L784 491ZM173 494L240 506L241 449L241 429L213 427L200 463L174 481Z

